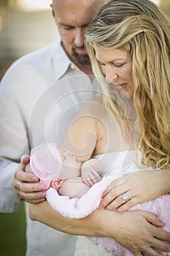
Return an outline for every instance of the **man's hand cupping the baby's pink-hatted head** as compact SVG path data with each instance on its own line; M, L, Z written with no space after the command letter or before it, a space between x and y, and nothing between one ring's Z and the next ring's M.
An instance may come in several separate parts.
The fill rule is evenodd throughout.
M45 184L39 182L29 165L30 157L23 155L14 175L15 192L28 203L41 203L46 200Z

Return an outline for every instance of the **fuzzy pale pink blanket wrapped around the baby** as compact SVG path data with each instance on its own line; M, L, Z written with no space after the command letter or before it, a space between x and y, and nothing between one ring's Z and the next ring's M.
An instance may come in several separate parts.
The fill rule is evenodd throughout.
M118 178L118 176L117 176ZM47 190L47 201L50 203L55 211L58 211L65 217L80 219L88 216L92 211L98 208L101 201L101 195L110 182L115 179L114 176L106 176L97 184L93 185L89 191L80 198L70 199L67 196L60 196L55 189L50 188ZM161 219L165 225L163 230L170 232L170 195L162 195L155 200L134 206L129 211L144 210L152 212ZM107 252L114 256L133 256L133 254L118 244L112 238L105 237L91 237L89 238L93 244L101 246ZM162 252L163 255L169 255L169 253Z

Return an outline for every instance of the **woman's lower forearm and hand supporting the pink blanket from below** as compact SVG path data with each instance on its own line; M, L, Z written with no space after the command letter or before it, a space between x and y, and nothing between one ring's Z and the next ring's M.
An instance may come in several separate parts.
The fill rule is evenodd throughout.
M170 233L158 228L163 223L155 215L144 211L118 213L98 209L84 219L67 219L45 202L30 204L29 216L64 233L114 238L134 255L145 252L160 256L152 247L170 252Z

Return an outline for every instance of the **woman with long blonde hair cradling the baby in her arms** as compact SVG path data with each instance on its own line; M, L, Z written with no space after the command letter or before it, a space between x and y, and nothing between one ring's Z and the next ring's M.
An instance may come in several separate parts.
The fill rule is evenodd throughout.
M141 163L144 167L162 169L120 178L105 192L102 208L113 209L121 206L120 211L125 211L137 203L170 192L169 34L168 19L149 0L111 1L88 26L86 39L93 72L101 84L105 107L114 113L115 123L121 127L123 137L120 151L128 150L132 141L130 149L142 153ZM107 83L99 78L105 78ZM131 99L137 115L135 122L131 111L126 113L124 108ZM45 208L44 216L39 214L39 209L43 210L45 206L31 206L32 219L38 219L63 232L115 238L136 256L142 253L162 255L154 248L169 252L169 244L163 242L169 242L169 234L155 227L161 225L144 218L144 215L142 219L138 219L142 213L137 215L137 212L125 211L116 214L97 210L90 217L78 222L67 222L50 208ZM98 214L101 214L100 217ZM58 217L58 222L67 222L67 226L61 227L56 223L55 217ZM147 224L144 222L146 219ZM99 221L101 223L97 226L96 222ZM153 224L150 227L149 222ZM94 232L90 230L90 223L93 223ZM100 233L103 227L108 231L107 234ZM104 252L80 238L76 255L104 255Z

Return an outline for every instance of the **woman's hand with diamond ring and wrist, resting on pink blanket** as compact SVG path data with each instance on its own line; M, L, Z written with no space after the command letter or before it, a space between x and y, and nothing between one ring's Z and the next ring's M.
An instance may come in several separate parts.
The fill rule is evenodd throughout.
M127 211L132 206L167 194L170 191L170 170L149 170L131 173L112 181L107 187L99 208ZM123 193L127 200L123 200Z

